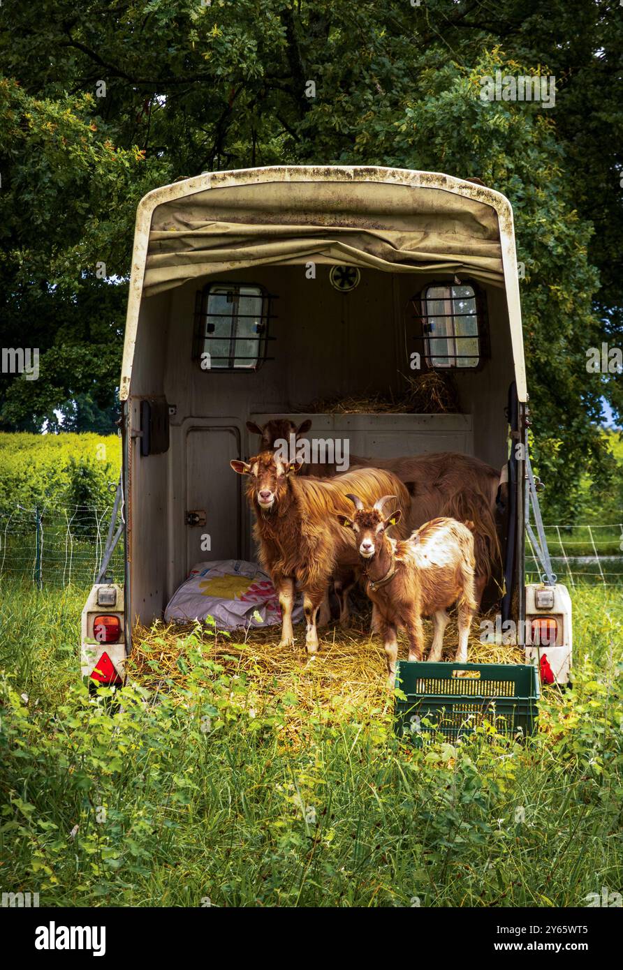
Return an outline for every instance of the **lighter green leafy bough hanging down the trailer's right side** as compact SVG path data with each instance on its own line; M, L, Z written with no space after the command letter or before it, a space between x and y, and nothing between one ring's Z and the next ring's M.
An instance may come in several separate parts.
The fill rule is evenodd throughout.
M599 286L588 259L592 229L575 209L574 183L548 114L537 104L478 97L480 79L496 70L532 73L497 50L470 70L452 61L426 72L401 118L389 108L366 116L355 151L362 161L365 155L379 164L477 174L511 200L517 258L525 268L521 297L534 458L545 480L565 484L552 490L549 513L557 521L562 514L573 519L581 475L588 472L604 486L614 470L601 429L591 423L600 418L606 386L586 372L585 350L602 339L592 309Z

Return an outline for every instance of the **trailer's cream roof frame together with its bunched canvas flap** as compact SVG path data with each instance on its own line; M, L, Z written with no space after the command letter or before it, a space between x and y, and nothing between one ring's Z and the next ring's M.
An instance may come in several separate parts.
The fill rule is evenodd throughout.
M265 266L337 263L467 274L506 288L519 400L526 400L508 200L449 176L376 167L277 166L209 173L150 192L137 213L120 398L142 297Z

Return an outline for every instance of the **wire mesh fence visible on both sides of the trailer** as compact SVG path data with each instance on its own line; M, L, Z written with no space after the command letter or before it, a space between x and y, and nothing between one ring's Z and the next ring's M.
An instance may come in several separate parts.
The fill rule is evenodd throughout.
M112 505L0 509L0 582L15 576L38 587L88 586L99 572ZM553 571L560 582L615 585L623 582L623 523L544 527ZM108 568L123 580L123 540ZM539 581L541 566L528 538L526 578Z

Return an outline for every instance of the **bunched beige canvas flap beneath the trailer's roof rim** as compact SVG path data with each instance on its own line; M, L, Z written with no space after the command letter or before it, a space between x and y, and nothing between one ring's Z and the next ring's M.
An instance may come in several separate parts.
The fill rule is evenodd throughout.
M145 293L194 276L309 260L394 273L468 270L504 281L497 213L475 199L382 182L263 182L159 206Z

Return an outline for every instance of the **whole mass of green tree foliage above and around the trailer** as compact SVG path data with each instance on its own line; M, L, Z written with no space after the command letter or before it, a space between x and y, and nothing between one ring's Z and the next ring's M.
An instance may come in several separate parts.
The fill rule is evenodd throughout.
M139 0L109 12L5 0L0 17L0 337L20 345L28 320L44 353L40 381L3 383L5 427L34 430L78 395L112 405L148 189L256 165L419 167L508 195L551 514L574 515L586 470L606 486L597 423L603 396L621 415L623 383L587 374L585 353L623 330L623 20L611 0ZM554 75L555 107L483 102L480 78L496 68ZM95 276L99 262L116 285Z

